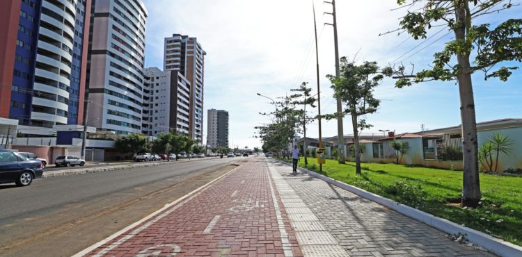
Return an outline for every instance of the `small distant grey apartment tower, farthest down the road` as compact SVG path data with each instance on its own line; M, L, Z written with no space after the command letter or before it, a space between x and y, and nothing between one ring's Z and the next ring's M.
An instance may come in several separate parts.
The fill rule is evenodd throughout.
M207 146L228 147L228 112L209 109L207 115Z

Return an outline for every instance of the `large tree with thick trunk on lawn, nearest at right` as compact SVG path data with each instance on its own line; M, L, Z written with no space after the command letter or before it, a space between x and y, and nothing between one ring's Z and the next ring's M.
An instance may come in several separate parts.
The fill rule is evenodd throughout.
M397 88L425 81L457 81L464 148L462 206L475 207L481 198L471 74L482 71L485 79L499 78L501 81L507 81L512 74L511 71L519 67L503 66L493 72L491 69L504 61L522 61L522 19L507 19L493 29L490 29L490 24L472 25L477 17L498 13L514 6L511 1L498 6L502 2L397 0L399 5L409 6L409 10L412 10L402 17L399 31L406 31L418 40L427 38L431 28L445 26L455 35L454 40L446 43L443 51L434 54L433 65L429 69L406 75L405 68L401 65L397 70L390 67L388 71L395 73L395 78L398 78ZM470 9L469 3L473 3L475 8ZM470 56L474 56L474 66L470 62ZM455 60L457 63L454 63Z

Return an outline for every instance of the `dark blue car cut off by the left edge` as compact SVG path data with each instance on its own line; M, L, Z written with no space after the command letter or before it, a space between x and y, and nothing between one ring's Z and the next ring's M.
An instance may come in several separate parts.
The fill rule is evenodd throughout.
M0 183L31 185L33 179L42 174L42 161L30 160L13 151L0 150Z

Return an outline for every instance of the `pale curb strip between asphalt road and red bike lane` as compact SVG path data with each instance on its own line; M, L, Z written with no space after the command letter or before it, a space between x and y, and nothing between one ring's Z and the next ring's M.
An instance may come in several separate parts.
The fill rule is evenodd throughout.
M133 224L130 224L129 226L125 227L125 229L121 229L120 231L113 233L113 235L109 236L108 238L105 238L104 240L97 242L82 251L79 251L77 254L74 254L72 257L85 256L90 251L93 251L93 250L97 249L98 247L101 247L103 244L106 244L107 242L111 242L111 240L113 240L114 238L117 238L118 236L122 235L123 233L125 233L127 231L130 231L131 229L134 229L134 227L139 226L143 222L146 222L148 219L154 217L155 215L158 215L159 213L163 212L164 210L171 208L171 207L175 206L176 204L183 203L185 200L187 200L189 197L191 197L191 195L196 194L196 193L200 192L201 190L204 190L205 188L208 188L214 182L219 181L220 179L223 179L225 176L228 176L228 174L231 174L232 172L235 172L237 169L239 169L239 167L241 167L241 165L235 167L234 169L230 170L226 174L223 174L223 175L217 177L216 179L210 181L209 183L206 183L205 185L202 185L199 188L196 188L196 190L193 190L193 191L189 192L188 194L185 194L183 197L180 197L179 199L171 202L170 204L165 204L165 206L163 208L160 208L159 210L156 210L154 213L151 213L150 215L148 215L147 217L144 217L143 219L140 219L139 221L134 222Z

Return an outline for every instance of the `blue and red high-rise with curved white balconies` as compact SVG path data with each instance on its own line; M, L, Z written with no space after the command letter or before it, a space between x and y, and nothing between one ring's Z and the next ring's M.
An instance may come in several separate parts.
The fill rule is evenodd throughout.
M0 117L42 128L82 124L90 4L0 1Z

